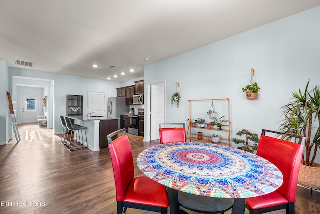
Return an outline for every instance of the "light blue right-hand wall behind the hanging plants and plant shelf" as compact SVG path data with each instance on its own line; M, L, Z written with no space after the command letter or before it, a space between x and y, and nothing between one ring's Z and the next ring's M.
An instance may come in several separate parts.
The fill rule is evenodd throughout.
M315 7L154 63L144 69L145 83L166 80L167 123L186 121L189 99L230 98L231 139L242 129L258 135L262 128L277 130L279 109L291 92L309 79L311 86L320 85L319 20L320 7ZM261 88L257 100L247 100L241 90L249 84L251 68ZM175 82L181 83L179 108L170 104Z

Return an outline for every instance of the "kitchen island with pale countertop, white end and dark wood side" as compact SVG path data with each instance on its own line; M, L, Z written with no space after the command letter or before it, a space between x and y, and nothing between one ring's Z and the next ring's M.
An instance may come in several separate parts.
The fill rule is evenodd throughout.
M87 127L88 148L99 151L107 148L106 136L118 129L118 119L107 117L66 116L74 120L74 124Z

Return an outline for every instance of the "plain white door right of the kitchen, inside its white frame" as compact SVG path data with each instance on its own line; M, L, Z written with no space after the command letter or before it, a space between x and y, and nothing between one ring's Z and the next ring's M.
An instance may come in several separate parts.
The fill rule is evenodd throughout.
M151 140L159 139L159 123L164 123L164 87L151 85Z

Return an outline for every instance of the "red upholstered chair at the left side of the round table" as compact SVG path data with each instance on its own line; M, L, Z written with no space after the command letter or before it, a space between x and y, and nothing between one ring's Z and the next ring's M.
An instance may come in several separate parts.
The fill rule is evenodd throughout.
M112 142L112 137L120 132L123 135ZM132 151L125 129L112 132L107 139L114 173L117 214L125 213L127 208L167 213L169 202L165 186L146 176L134 177Z

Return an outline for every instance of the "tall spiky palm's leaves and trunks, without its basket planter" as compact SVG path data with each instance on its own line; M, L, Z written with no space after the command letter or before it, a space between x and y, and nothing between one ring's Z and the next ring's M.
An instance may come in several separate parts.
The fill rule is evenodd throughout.
M304 92L293 92L293 101L282 106L284 120L280 123L280 131L305 136L305 153L302 163L312 166L317 149L320 148L320 89L315 86L308 91L310 80L307 82ZM314 129L314 127L316 127ZM312 138L311 135L314 137ZM290 138L290 137L286 137ZM313 155L311 157L311 151Z

